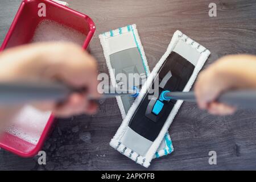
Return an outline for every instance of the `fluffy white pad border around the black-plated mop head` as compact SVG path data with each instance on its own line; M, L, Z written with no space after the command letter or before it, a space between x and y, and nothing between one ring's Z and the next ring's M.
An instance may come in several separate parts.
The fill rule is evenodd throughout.
M205 47L201 46L200 44L196 43L192 39L188 38L188 36L184 35L179 30L177 30L174 33L174 36L172 37L170 44L168 45L167 51L164 53L164 55L159 60L159 62L155 65L155 68L153 69L150 76L147 78L146 83L143 85L139 96L134 101L134 104L131 106L130 110L128 111L126 118L123 120L121 126L117 130L117 133L114 135L113 139L110 142L110 146L115 148L115 150L118 150L123 155L126 155L127 157L134 160L138 164L141 164L144 167L150 166L150 162L154 158L155 152L158 149L158 146L159 146L161 140L164 138L164 135L168 131L168 128L170 127L170 125L171 125L177 111L179 110L181 104L183 103L183 101L179 100L176 102L170 115L168 116L166 122L164 123L164 126L163 126L162 130L160 131L158 137L152 143L151 147L149 148L149 150L147 151L145 156L140 156L135 151L131 151L129 148L124 146L120 141L121 141L123 135L125 134L127 127L129 126L131 117L133 117L135 110L138 108L139 104L143 100L143 97L147 93L147 89L153 82L155 75L159 72L159 69L163 65L164 61L167 59L167 57L170 55L170 53L174 50L174 48L175 48L176 44L179 42L179 40L184 41L185 43L187 43L188 45L190 45L192 48L196 49L196 51L198 51L200 53L199 60L197 61L197 64L195 65L195 69L194 69L191 77L189 78L189 81L185 85L183 92L188 92L191 89L193 82L196 80L197 74L199 73L199 71L203 67L205 61L207 60L208 56L210 55L210 51L208 49L206 49Z

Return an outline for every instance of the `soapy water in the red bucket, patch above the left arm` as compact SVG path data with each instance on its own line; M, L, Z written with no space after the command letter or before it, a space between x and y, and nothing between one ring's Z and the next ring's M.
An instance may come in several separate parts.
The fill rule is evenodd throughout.
M71 27L64 26L52 20L43 20L36 27L31 42L73 42L82 46L85 39L86 36L84 34Z

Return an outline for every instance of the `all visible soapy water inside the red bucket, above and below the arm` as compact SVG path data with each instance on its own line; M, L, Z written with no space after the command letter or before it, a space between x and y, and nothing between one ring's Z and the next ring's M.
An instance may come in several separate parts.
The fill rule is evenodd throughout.
M73 28L52 20L43 20L36 28L31 43L57 41L73 42L82 46L85 39L84 34ZM29 143L37 144L50 115L51 111L40 111L33 106L26 105L14 115L11 126L6 129L6 132Z

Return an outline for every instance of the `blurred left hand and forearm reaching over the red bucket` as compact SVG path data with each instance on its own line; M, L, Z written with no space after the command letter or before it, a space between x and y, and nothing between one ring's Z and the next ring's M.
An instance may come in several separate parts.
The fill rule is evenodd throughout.
M63 104L35 102L34 106L51 110L57 117L93 114L97 104L88 95L97 92L96 60L73 43L36 43L7 49L0 54L0 81L61 81L84 93L72 93Z

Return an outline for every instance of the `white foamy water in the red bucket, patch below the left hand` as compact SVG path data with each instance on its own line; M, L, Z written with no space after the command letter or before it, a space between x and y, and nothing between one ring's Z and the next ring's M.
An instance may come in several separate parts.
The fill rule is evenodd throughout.
M50 115L50 111L40 111L26 105L14 116L11 126L6 131L27 142L37 144Z

